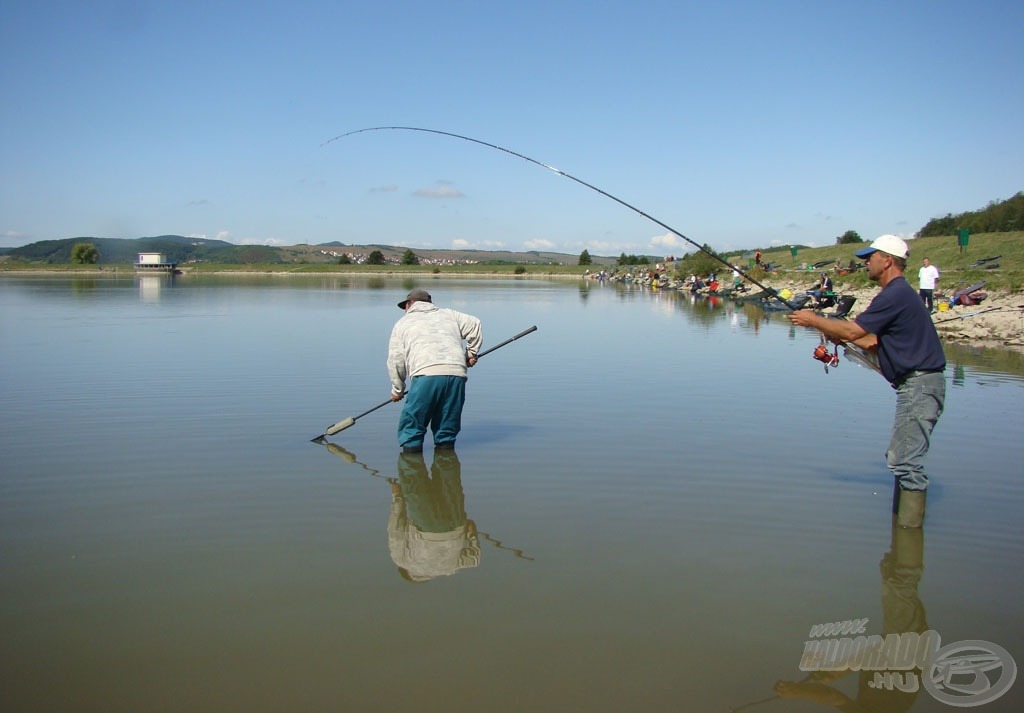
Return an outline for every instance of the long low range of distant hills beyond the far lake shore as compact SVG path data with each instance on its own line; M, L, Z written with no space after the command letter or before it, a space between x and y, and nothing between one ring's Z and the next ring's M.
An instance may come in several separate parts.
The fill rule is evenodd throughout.
M221 264L333 264L342 254L353 262L364 262L374 250L379 250L388 262L400 262L410 248L392 245L346 245L337 241L319 245L293 245L269 247L265 245L234 245L221 240L185 238L184 236L157 236L153 238L66 238L44 240L19 248L3 251L7 259L27 262L71 262L71 251L76 243L91 243L99 251L99 263L132 263L140 252L159 252L168 261L215 262ZM506 250L420 250L412 249L426 264L480 263L480 264L568 264L579 262L579 255L566 253ZM613 257L591 256L593 264L612 265Z

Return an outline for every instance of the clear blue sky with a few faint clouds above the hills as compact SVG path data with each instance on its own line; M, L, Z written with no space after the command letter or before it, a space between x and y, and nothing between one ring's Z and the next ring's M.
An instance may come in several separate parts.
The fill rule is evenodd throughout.
M0 247L911 238L1024 190L1022 37L1020 0L6 0ZM508 149L671 230L478 143L330 140L380 126Z

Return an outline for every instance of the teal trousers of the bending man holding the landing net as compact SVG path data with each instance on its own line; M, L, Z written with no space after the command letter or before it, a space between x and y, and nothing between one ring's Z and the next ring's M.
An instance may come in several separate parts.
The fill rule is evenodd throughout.
M454 444L462 430L466 403L466 377L414 376L398 417L398 445L423 446L430 428L437 444Z

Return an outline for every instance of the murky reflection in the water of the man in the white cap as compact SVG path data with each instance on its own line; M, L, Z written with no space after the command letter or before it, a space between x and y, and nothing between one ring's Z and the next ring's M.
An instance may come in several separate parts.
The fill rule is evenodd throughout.
M889 551L882 557L882 636L886 634L924 633L928 630L925 606L918 596L918 583L924 572L925 533L919 528L898 528L893 523ZM882 685L876 671L858 673L857 698L850 699L830 685L844 671L816 671L803 681L779 681L779 698L802 698L841 711L867 713L908 711L922 686L920 668L894 672L897 685ZM903 688L901 690L900 688Z

